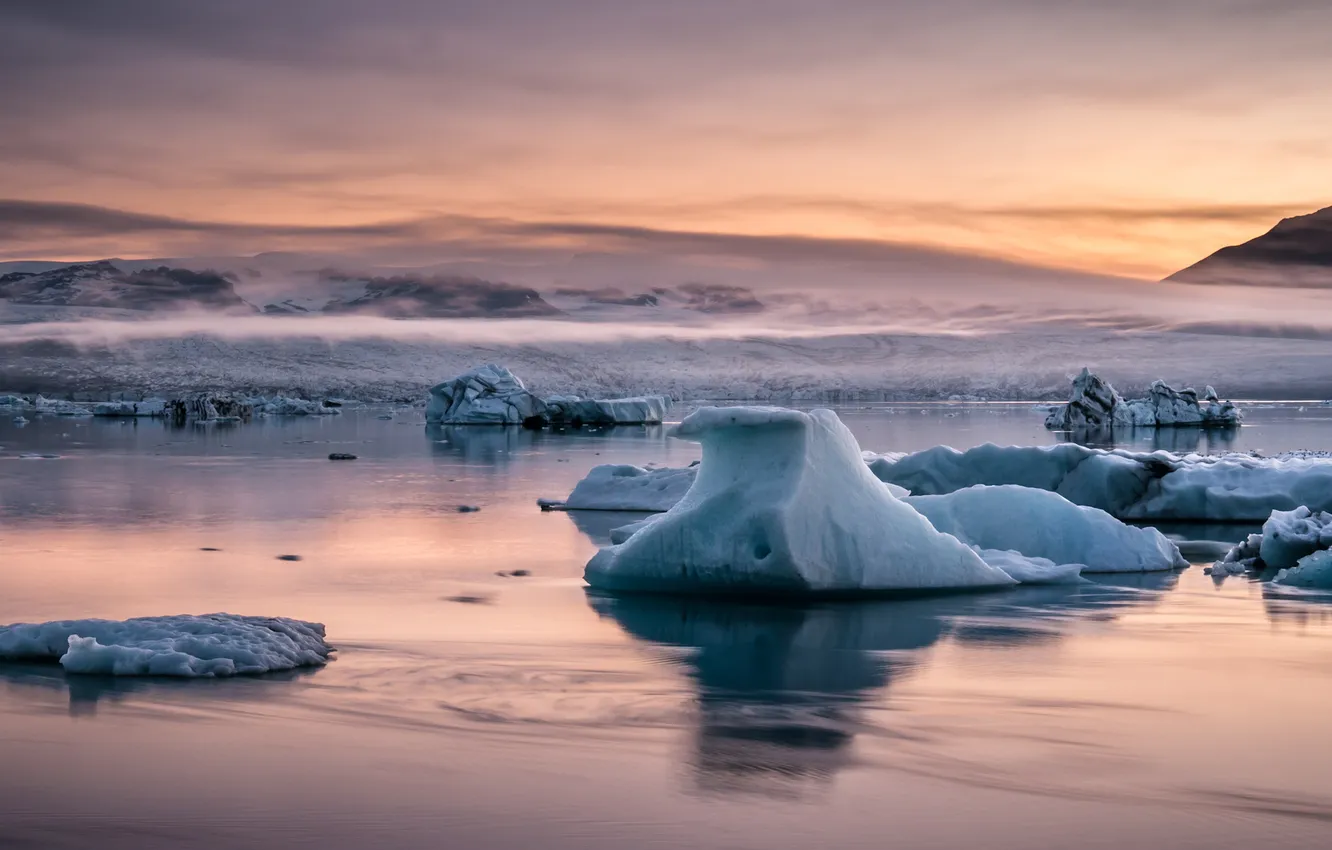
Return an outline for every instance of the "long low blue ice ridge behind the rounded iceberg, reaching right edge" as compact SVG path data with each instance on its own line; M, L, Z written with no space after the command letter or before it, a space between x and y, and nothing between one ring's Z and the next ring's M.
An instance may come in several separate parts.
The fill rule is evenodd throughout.
M1171 454L1088 449L1074 444L959 452L935 446L871 460L882 481L915 496L978 484L1052 490L1120 520L1260 522L1273 510L1332 510L1332 458L1291 454Z

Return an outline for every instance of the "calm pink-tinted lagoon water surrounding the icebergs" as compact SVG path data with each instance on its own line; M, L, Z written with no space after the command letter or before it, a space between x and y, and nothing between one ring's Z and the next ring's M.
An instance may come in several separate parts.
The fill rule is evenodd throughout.
M1332 449L1332 408L1251 410L1163 448ZM0 417L0 622L229 610L340 647L218 682L0 665L0 847L1332 842L1332 605L1197 568L811 609L599 598L582 565L625 517L534 500L697 446L381 413ZM1058 440L1030 405L842 413L880 452Z

